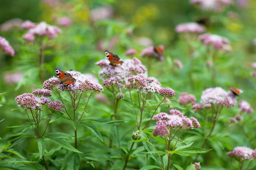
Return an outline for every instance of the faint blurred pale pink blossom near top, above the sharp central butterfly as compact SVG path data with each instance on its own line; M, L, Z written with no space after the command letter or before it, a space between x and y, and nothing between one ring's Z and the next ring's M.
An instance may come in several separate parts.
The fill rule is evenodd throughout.
M111 18L114 15L114 10L111 6L101 6L91 11L92 21Z

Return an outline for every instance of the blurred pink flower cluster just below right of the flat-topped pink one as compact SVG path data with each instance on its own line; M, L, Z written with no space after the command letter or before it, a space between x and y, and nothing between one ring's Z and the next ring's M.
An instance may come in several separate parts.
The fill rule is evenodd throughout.
M229 40L225 37L218 36L215 34L202 34L198 38L204 43L204 45L213 45L216 50L228 51L227 45L229 45Z

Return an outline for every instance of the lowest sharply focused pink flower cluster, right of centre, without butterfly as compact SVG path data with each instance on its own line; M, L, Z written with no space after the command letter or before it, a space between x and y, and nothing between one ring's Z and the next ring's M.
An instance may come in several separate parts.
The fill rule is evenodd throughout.
M166 136L176 127L184 129L200 128L200 124L195 117L189 119L176 109L170 110L170 114L158 113L153 118L156 121L155 130L153 131L154 136Z

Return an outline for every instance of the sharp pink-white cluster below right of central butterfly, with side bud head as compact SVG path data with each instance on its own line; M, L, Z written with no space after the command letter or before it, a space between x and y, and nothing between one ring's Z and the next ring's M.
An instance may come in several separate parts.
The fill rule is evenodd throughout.
M155 79L154 77L145 77L141 74L129 77L128 82L131 83L131 88L135 88L137 89L137 91L145 94L158 92L159 89L161 88L161 84L157 79ZM173 94L173 91L170 89L162 89L161 91L163 95Z

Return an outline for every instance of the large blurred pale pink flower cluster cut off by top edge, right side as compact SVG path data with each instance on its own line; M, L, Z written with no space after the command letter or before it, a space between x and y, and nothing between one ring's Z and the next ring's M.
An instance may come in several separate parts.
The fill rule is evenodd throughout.
M224 6L232 4L231 0L190 0L191 4L197 4L203 10L222 11Z

